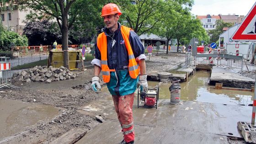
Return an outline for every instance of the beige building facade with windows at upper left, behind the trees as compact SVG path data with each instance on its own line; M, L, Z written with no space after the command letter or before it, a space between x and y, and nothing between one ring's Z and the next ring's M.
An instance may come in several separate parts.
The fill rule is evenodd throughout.
M27 11L21 11L17 6L14 6L13 8L7 7L5 11L0 12L0 18L3 26L7 29L9 27L9 31L22 34L26 25L24 21L27 14Z

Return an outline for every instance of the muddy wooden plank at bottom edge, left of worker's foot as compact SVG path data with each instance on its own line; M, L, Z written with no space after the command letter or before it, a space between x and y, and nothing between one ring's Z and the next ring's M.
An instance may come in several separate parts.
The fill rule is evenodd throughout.
M50 144L74 144L84 137L86 133L87 129L73 128L59 138L53 140Z

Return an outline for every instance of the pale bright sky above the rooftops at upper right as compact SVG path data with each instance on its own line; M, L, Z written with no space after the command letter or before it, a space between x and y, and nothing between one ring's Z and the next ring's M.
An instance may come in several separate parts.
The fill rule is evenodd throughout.
M256 0L194 0L192 14L210 15L247 15Z

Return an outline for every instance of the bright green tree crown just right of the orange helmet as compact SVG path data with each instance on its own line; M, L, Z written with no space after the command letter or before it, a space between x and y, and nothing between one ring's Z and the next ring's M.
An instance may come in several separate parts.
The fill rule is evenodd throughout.
M124 24L131 27L139 36L151 32L162 19L160 11L164 0L134 0L133 2L126 0L126 2L119 1L118 4L121 5L121 11L125 17Z

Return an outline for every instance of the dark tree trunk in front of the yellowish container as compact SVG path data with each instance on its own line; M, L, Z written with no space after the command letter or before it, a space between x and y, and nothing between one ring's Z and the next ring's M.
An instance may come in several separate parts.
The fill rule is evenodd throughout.
M63 16L61 32L62 32L62 51L64 53L64 57L63 57L64 67L69 69L69 51L68 51L69 30L68 30L67 17L65 16Z

